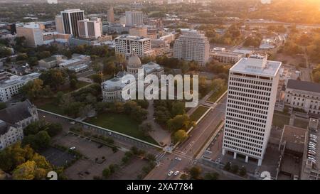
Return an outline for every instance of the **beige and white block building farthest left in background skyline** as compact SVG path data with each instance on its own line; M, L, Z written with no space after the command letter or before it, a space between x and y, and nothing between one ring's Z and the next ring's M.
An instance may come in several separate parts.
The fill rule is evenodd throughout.
M38 23L20 23L16 24L16 35L26 38L26 45L36 47L43 45L43 35L41 26Z

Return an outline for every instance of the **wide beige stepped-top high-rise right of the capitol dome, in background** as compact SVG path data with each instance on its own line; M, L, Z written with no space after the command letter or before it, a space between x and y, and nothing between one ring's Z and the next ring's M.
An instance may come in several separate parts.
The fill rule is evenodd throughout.
M206 65L209 52L208 38L198 31L185 31L174 43L174 58L194 60L199 65Z

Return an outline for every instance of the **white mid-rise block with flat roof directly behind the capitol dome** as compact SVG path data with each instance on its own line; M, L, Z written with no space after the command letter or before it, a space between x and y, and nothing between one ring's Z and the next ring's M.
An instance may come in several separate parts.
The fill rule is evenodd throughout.
M152 55L150 38L122 35L114 38L115 52L122 55L139 55L139 57Z

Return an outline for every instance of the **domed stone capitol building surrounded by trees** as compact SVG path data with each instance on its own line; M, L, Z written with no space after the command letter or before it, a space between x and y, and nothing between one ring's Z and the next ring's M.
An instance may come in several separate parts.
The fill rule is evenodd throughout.
M149 62L142 65L139 57L137 55L132 55L128 60L127 71L118 72L112 79L101 83L103 101L124 102L122 90L129 83L122 82L122 77L127 74L132 74L137 79L138 70L144 70L144 76L153 74L160 78L160 76L164 74L164 68L159 64ZM146 87L146 85L144 87Z

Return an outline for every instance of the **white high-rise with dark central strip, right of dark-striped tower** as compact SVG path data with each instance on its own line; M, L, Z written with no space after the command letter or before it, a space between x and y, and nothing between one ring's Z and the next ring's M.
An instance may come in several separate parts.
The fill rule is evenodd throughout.
M102 36L102 23L100 18L84 19L78 21L79 37L99 38Z

